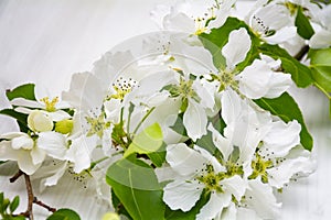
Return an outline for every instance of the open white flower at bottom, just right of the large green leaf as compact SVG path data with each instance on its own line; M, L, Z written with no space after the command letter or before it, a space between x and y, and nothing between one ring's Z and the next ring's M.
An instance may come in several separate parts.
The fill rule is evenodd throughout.
M214 219L229 206L232 196L241 200L246 184L238 175L227 177L225 167L209 152L194 148L185 144L168 146L167 162L178 176L164 187L163 200L173 210L189 211L205 189L211 197L196 219Z

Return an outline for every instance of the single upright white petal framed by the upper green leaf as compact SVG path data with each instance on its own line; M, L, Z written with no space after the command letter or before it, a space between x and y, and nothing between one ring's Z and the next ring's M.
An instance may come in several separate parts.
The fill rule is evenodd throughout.
M222 48L222 54L226 59L228 69L234 69L237 64L246 58L250 45L250 36L246 29L241 28L229 33L228 42Z

